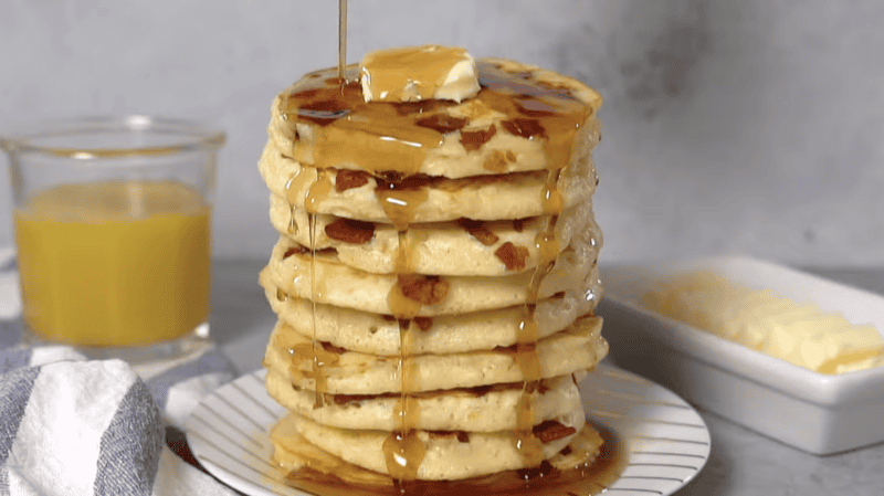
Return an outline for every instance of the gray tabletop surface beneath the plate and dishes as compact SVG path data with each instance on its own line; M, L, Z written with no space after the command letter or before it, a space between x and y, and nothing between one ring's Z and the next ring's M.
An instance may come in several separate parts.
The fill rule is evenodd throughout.
M217 261L212 274L212 336L241 372L261 367L276 321L261 287L262 261ZM834 281L884 295L884 270L810 268ZM815 456L699 411L712 434L706 467L677 496L884 494L884 444ZM884 429L884 426L882 426Z

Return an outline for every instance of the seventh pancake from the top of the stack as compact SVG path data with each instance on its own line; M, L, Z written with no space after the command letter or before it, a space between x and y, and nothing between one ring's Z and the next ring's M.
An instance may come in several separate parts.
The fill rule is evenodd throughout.
M578 376L582 376L579 373ZM540 423L556 420L582 408L577 379L560 376L541 381L532 393L533 418ZM323 425L341 429L394 431L399 394L328 394L316 408L314 391L295 388L287 374L267 371L267 392L292 412ZM516 407L522 401L522 383L499 384L417 394L415 429L425 431L494 432L517 428Z

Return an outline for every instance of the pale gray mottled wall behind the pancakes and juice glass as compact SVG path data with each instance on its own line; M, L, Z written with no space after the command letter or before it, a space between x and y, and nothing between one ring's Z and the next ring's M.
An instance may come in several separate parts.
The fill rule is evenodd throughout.
M604 261L735 252L884 264L884 2L351 0L349 59L456 44L606 98ZM273 96L336 64L334 0L0 0L0 133L34 118L215 120L214 250L274 242L255 162ZM0 163L4 163L4 159ZM12 240L0 187L0 245Z

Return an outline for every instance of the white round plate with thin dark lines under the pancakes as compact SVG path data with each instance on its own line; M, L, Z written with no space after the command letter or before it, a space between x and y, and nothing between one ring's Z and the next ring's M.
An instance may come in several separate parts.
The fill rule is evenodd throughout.
M253 496L307 493L285 485L270 462L267 436L284 410L264 390L264 371L243 376L209 394L190 415L187 437L212 475ZM709 457L709 431L691 405L646 379L601 365L580 384L587 418L612 430L625 452L618 496L670 495Z

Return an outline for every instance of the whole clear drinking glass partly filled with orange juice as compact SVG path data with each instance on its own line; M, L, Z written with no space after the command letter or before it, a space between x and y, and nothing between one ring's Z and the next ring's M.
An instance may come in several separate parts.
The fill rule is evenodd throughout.
M27 341L130 362L206 342L210 194L223 140L140 116L3 138Z

